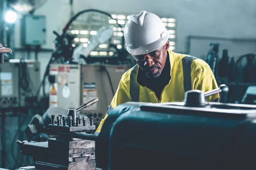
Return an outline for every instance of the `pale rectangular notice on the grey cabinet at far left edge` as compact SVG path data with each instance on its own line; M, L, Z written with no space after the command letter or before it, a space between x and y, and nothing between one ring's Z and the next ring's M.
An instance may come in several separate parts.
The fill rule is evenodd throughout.
M0 80L1 80L1 95L11 96L13 94L12 73L11 72L0 73Z

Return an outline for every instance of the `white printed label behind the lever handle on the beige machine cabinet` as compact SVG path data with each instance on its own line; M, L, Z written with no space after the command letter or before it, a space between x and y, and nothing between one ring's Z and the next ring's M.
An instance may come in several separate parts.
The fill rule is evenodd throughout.
M84 95L84 103L89 101L90 99L97 97L95 82L84 83L83 95ZM97 103L90 105L88 108L85 108L85 110L96 110L96 109L97 109Z

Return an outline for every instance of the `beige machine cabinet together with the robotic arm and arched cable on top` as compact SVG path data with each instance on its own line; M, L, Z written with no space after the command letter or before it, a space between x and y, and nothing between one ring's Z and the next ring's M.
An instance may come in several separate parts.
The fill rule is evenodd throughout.
M61 35L54 31L57 36L54 41L55 51L47 65L50 82L49 107L68 110L77 108L94 97L99 97L97 104L81 111L82 114L93 117L97 127L108 111L122 75L131 68L131 61L124 48L115 47L116 55L113 56L90 55L91 51L113 36L113 26L101 26L97 34L88 39L87 46L83 43L74 44L76 34L69 33L70 26L79 15L87 12L103 14L113 19L111 14L104 11L84 10L70 19ZM120 24L116 24L122 28ZM124 40L120 43L124 47Z

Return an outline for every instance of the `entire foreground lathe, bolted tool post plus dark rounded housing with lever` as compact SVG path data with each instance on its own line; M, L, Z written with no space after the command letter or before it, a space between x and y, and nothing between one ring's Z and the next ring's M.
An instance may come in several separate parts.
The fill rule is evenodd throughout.
M95 169L94 161L103 170L250 169L256 153L256 106L205 100L227 91L221 85L205 93L187 91L184 102L124 103L109 113L99 136L79 133L86 123L81 125L76 111L68 111L73 116L64 127L60 117L57 125L52 117L49 129L58 131L56 139L17 143L24 155L33 156L38 170Z

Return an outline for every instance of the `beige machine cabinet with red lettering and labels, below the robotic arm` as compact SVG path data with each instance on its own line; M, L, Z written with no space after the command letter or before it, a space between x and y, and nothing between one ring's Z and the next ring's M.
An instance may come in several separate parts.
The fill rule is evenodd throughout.
M99 102L81 111L99 125L111 104L122 75L131 65L51 64L49 107L65 110L78 108L82 103L99 98Z

